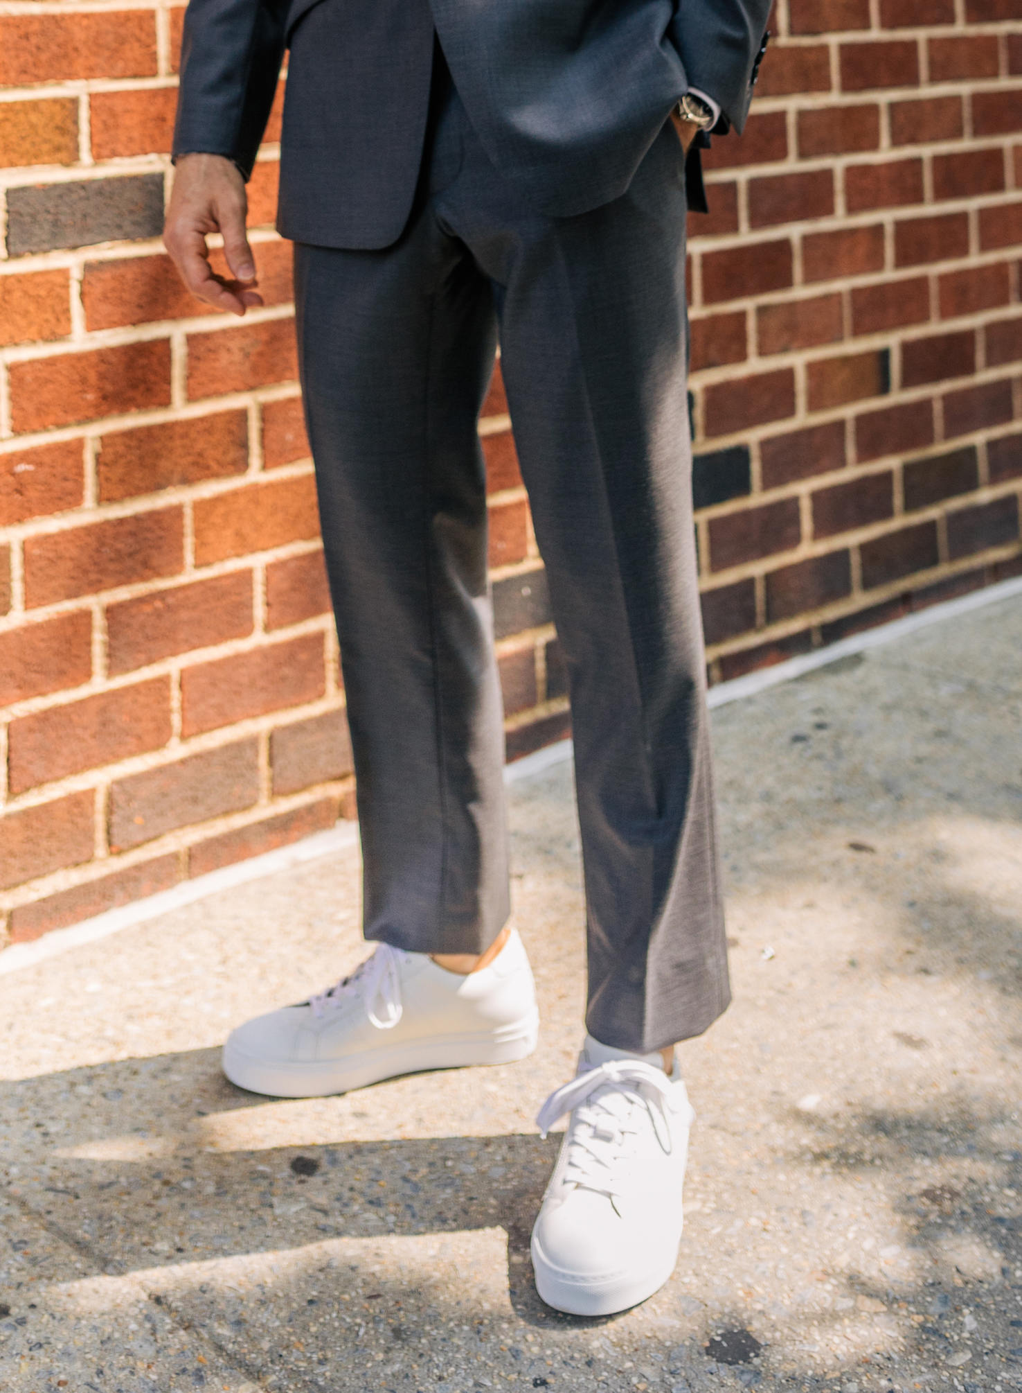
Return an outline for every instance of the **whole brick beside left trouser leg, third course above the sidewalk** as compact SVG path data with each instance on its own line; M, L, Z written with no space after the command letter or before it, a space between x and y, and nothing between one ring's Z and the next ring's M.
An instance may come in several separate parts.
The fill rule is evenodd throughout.
M181 673L181 734L198 736L284 706L299 706L324 691L322 634L195 663Z

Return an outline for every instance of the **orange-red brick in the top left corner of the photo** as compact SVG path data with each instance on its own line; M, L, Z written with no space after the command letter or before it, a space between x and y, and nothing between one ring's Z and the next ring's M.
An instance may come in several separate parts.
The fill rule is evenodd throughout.
M0 86L155 72L152 10L0 17Z

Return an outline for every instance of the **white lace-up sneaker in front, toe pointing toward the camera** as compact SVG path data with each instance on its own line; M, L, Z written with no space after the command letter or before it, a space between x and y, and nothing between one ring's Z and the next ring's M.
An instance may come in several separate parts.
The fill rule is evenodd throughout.
M586 1036L578 1074L547 1098L546 1137L571 1113L532 1230L536 1290L571 1315L611 1315L652 1297L678 1258L695 1112L675 1063Z

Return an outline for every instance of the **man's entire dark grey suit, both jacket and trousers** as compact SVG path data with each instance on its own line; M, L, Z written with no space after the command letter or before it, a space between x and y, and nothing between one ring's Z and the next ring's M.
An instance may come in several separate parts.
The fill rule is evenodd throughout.
M201 134L221 57L209 60L207 88L188 77L202 14L239 4L192 0L177 149L244 163L255 145L239 139L237 111L228 138L207 106ZM700 71L698 85L741 123L766 4L693 11L716 17L732 57L714 54L727 81L714 88ZM326 64L355 72L334 45L344 32L355 42L356 14L373 45L401 36L414 92L427 38L429 100L425 111L397 103L393 127L375 132L361 116L343 148L310 84ZM395 14L387 0L306 8L291 33L284 124L281 230L298 240L299 362L358 776L365 932L418 951L482 951L508 912L476 439L498 337L568 666L586 1021L608 1045L650 1050L703 1031L728 1002L692 529L685 160L667 121L686 86L678 15L670 0L433 0L436 28L425 0L402 0L400 24ZM283 42L288 22L273 32ZM262 40L248 35L251 57ZM382 52L361 53L383 72ZM607 93L611 71L627 81ZM365 74L352 81L379 118ZM265 110L265 93L251 99ZM369 171L351 149L375 152Z

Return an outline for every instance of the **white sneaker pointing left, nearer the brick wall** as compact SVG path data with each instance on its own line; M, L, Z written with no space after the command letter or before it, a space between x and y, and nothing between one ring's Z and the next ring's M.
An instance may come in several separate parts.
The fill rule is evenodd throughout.
M425 1068L525 1059L537 1028L517 929L487 967L466 976L427 953L380 943L329 992L239 1025L224 1045L223 1068L253 1094L319 1098Z

